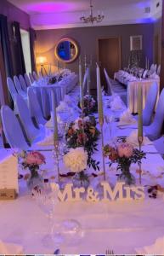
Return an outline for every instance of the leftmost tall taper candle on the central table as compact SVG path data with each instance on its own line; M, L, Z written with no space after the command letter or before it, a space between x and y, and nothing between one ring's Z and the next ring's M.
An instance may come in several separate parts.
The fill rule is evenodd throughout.
M51 90L51 104L52 104L52 123L54 127L54 142L56 142L58 141L58 120L57 120L57 114L56 114L54 90Z

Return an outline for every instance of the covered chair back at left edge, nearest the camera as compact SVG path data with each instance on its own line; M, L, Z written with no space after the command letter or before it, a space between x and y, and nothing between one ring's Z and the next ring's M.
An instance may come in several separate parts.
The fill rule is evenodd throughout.
M20 148L23 150L29 149L29 145L25 141L23 131L21 130L20 123L13 110L8 106L1 108L1 118L3 122L4 135L11 148Z

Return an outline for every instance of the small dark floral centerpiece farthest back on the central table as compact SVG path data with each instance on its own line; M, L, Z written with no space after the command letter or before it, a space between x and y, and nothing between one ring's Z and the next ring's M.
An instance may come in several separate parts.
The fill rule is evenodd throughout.
M88 116L88 114L95 113L98 111L98 104L94 100L93 96L86 95L83 97L83 100L84 100L83 114L85 116ZM80 102L78 102L78 107L81 108Z

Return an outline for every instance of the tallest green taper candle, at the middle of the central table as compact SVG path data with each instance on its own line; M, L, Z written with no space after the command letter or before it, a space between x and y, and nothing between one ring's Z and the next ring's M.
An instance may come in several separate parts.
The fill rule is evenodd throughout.
M98 111L99 111L99 125L104 124L104 114L103 114L103 101L102 101L102 90L101 90L101 82L100 82L100 73L99 66L96 68L97 75L97 99L98 99Z

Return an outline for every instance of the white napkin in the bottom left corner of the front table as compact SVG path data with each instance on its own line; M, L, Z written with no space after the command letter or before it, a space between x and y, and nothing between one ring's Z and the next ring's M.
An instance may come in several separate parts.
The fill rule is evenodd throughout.
M3 242L0 240L0 253L1 254L24 254L23 247L15 244Z

